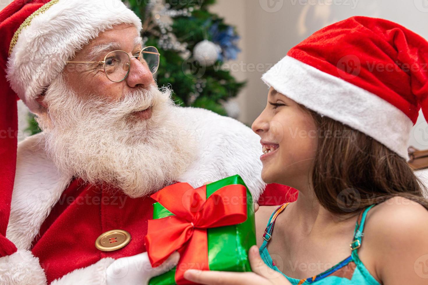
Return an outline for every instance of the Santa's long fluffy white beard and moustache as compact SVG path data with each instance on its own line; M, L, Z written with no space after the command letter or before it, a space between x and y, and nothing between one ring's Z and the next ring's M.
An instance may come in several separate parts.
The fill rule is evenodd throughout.
M153 85L113 103L94 95L83 100L59 75L45 93L47 114L37 118L45 151L70 176L147 196L174 182L195 157L193 134L174 116L170 95ZM131 115L150 106L148 120Z

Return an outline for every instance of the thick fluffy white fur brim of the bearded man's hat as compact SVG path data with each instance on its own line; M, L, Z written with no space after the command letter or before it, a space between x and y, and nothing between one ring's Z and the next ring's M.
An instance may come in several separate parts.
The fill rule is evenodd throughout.
M140 18L120 0L59 0L19 34L6 69L13 91L36 111L36 97L66 61L100 32L123 23L141 31Z

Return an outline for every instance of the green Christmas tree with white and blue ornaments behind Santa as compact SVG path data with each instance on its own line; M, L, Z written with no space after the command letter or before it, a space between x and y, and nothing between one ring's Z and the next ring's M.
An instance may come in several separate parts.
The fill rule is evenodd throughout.
M215 0L124 0L143 23L144 46L155 46L160 65L155 73L159 87L169 86L179 106L205 108L236 117L227 100L244 82L237 82L223 63L240 52L235 29L208 11ZM231 114L233 113L233 114ZM30 116L28 130L40 129Z

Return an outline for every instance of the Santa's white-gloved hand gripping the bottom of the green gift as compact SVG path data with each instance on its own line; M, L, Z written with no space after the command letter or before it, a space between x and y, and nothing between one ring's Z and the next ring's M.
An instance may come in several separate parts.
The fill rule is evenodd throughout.
M107 285L146 285L152 277L174 268L180 254L172 253L163 264L153 268L147 252L116 259L107 267Z

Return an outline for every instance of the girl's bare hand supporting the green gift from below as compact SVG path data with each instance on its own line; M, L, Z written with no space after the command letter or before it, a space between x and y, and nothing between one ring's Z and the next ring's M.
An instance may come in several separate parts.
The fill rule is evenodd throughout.
M184 272L184 278L198 284L206 285L291 285L281 273L269 268L265 262L263 262L256 245L250 248L248 256L253 272L223 272L190 269Z

